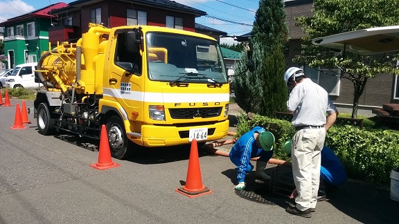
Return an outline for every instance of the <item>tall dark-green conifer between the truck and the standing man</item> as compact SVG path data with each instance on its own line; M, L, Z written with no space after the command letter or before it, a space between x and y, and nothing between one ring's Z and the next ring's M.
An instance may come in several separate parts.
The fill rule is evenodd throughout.
M261 0L256 11L251 45L254 71L247 71L247 54L235 66L236 102L245 112L272 116L285 111L287 88L283 79L288 28L283 0Z

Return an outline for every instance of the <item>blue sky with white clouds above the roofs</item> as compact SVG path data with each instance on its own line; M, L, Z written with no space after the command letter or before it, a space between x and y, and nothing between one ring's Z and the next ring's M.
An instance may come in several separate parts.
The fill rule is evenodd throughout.
M0 21L26 14L32 10L43 8L50 3L70 3L74 0L0 0ZM174 0L186 6L202 10L210 17L195 19L198 24L227 32L229 35L243 35L251 32L258 0ZM217 17L213 19L211 17ZM227 21L221 21L227 20ZM233 21L234 23L228 22ZM231 39L222 42L231 43Z

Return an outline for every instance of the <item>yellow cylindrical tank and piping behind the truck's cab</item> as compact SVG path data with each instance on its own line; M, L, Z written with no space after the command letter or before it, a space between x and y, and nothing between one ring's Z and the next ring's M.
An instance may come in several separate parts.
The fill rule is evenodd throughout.
M37 75L47 88L76 93L103 93L103 66L108 28L90 24L88 32L82 34L77 43L57 44L40 57Z

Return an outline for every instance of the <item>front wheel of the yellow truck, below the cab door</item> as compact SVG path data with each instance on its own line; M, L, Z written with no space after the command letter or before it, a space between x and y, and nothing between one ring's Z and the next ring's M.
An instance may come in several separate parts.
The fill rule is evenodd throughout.
M127 139L125 125L118 116L112 116L107 122L107 134L111 156L124 159L130 156L132 143Z

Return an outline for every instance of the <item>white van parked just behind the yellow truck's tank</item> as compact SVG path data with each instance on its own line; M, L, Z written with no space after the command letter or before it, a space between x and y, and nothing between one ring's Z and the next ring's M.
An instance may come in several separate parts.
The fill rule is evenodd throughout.
M6 86L8 88L39 88L42 84L35 82L36 66L37 62L17 65L6 78Z

